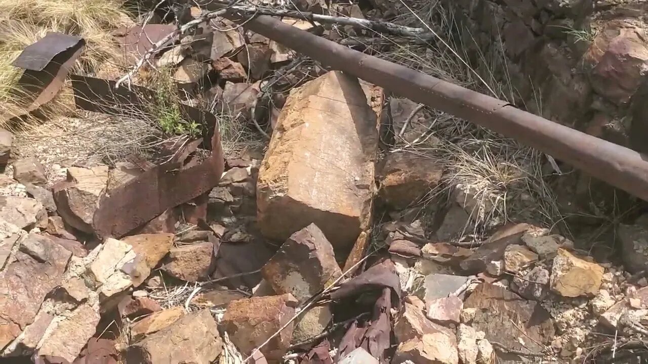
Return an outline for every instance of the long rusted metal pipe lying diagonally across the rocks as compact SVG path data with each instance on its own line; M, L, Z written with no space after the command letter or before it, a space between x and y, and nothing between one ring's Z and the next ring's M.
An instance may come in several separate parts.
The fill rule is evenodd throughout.
M270 16L248 20L248 16L232 13L226 17L333 69L516 139L648 201L646 155L527 113L503 100L354 51Z

